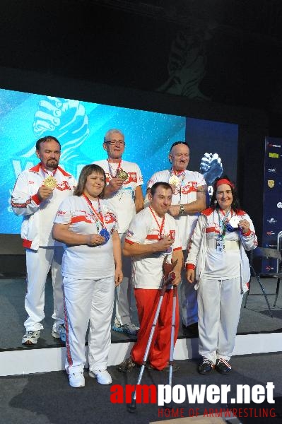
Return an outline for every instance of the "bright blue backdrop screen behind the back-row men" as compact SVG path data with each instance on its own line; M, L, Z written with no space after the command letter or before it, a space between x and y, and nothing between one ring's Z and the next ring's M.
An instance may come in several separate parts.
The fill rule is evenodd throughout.
M200 170L201 158L218 143L220 133L221 147L233 146L236 151L231 165L236 175L237 125L200 119L191 119L189 125L187 117L0 89L0 233L20 232L21 218L10 206L11 191L18 174L38 163L35 142L40 137L52 135L59 139L60 165L77 178L84 165L106 157L102 141L107 130L120 129L126 141L123 158L141 167L146 192L146 182L153 172L170 166L170 145L184 140L188 127L196 160L191 169Z

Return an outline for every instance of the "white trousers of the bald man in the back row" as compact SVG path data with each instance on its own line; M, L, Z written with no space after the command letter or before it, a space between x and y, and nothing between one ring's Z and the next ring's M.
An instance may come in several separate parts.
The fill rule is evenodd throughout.
M187 259L187 250L183 251L184 263ZM187 283L186 269L181 271L180 299L182 311L182 323L186 326L198 322L197 292L194 284Z

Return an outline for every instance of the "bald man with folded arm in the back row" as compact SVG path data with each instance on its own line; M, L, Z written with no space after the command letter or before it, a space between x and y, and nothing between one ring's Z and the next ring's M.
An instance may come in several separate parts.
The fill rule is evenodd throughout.
M168 160L170 170L155 172L148 180L147 194L155 182L168 182L172 187L172 206L169 213L177 222L184 261L190 237L196 226L199 212L206 208L206 181L199 172L188 171L189 146L185 141L176 141L170 148ZM146 196L147 197L147 196ZM146 206L146 203L145 203ZM181 285L182 327L187 336L198 336L198 306L194 285L188 284L182 273Z

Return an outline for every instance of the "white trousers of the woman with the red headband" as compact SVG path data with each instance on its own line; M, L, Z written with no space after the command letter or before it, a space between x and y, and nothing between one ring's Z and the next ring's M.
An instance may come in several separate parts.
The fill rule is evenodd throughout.
M213 363L229 360L233 353L242 297L240 277L203 278L199 284L199 354Z

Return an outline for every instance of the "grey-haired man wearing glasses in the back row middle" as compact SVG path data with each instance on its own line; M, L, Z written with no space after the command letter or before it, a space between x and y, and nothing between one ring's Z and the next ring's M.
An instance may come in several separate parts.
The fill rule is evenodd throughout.
M107 131L102 146L107 151L107 159L95 163L105 170L107 182L105 199L108 199L110 206L117 213L119 237L123 245L131 219L143 208L141 189L143 177L136 163L122 159L125 148L122 131L119 129ZM122 284L117 287L115 318L112 329L136 336L139 327L131 321L130 258L122 258L122 269L124 279Z

